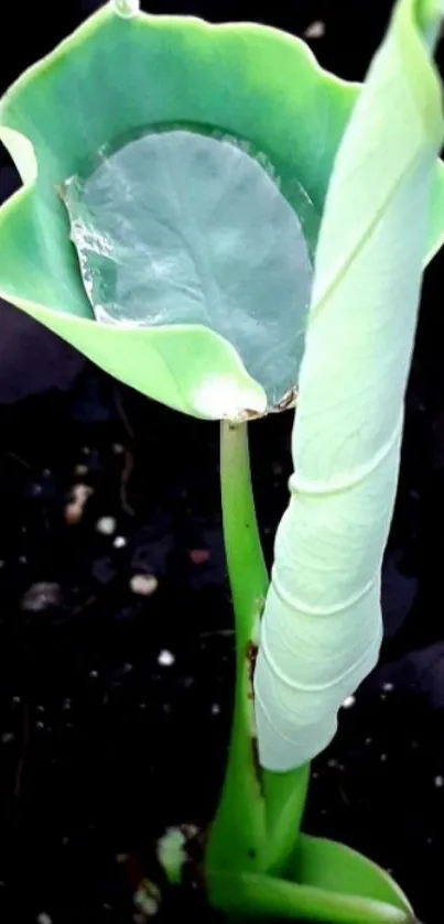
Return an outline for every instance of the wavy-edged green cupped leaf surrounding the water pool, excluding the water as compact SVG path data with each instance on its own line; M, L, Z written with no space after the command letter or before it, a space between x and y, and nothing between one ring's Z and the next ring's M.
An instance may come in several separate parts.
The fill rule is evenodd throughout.
M260 382L224 337L198 326L115 331L94 320L56 189L116 139L180 122L247 139L286 200L302 186L321 214L357 91L275 30L127 20L107 6L0 104L0 137L28 184L0 210L1 296L171 406L207 417L262 413ZM297 328L296 318L293 340Z

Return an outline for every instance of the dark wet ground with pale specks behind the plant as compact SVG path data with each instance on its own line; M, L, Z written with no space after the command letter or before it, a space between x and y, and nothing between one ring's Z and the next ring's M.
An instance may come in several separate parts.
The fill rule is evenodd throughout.
M8 4L0 90L97 6L64 0L50 13ZM391 7L184 2L150 11L295 34L321 20L325 34L308 41L322 64L360 79ZM6 152L0 159L3 199L17 181ZM443 921L443 265L435 259L424 284L383 572L382 659L315 762L305 819L307 830L390 869L423 924ZM251 427L269 559L286 502L291 424L288 413ZM90 496L73 523L79 485ZM110 535L100 532L104 517L113 518ZM150 596L131 587L140 575L156 578ZM164 651L170 665L159 661ZM231 688L217 426L142 399L0 304L2 921L141 924L132 893L153 874L155 838L214 812ZM163 911L165 921L178 914Z

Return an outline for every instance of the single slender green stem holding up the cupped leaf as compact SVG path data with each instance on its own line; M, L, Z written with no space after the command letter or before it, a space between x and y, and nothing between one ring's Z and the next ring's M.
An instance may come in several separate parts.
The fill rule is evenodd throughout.
M267 838L251 676L268 575L256 520L246 423L221 423L220 490L236 624L236 694L228 765L206 865L207 869L255 870L263 862Z

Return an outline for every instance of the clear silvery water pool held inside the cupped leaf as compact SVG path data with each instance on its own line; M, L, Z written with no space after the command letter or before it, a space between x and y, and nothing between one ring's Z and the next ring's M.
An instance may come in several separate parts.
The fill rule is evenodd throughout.
M101 149L61 195L97 320L201 324L275 406L296 384L318 217L223 130L156 127Z

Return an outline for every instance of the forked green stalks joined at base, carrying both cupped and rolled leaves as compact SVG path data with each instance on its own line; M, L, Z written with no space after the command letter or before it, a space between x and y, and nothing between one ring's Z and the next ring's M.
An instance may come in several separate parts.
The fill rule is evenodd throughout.
M226 778L206 854L210 895L214 870L286 871L308 783L307 767L277 776L261 771L258 762L252 674L269 578L256 519L246 423L221 423L220 491L235 610L236 694Z

